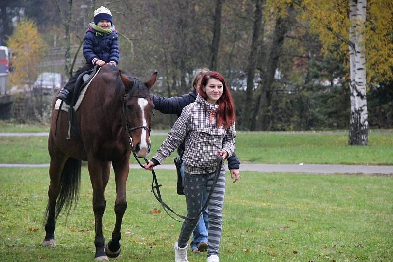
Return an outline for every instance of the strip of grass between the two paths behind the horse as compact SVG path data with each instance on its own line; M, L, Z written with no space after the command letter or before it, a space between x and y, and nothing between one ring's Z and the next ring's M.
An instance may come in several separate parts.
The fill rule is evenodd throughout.
M151 136L149 157L165 138ZM0 137L0 163L49 163L47 141L47 137ZM241 163L392 165L393 132L370 133L367 146L348 146L344 133L239 133L235 151ZM171 159L164 163L172 163Z

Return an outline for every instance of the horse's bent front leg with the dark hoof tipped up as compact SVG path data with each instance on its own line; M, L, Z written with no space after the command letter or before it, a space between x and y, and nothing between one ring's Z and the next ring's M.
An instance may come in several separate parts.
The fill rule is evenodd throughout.
M108 242L106 254L108 257L115 258L120 254L121 245L121 222L127 209L126 200L126 183L129 171L129 159L126 157L122 162L112 162L114 175L116 178L116 201L114 203L114 212L116 214L116 224L112 233L112 240Z

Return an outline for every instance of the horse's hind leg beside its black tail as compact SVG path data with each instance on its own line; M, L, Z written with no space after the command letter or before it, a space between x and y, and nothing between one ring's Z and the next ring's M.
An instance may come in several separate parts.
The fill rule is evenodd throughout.
M53 142L53 141L52 141ZM51 148L52 146L52 148ZM49 165L49 177L51 182L49 184L48 189L48 206L45 211L45 238L42 241L43 246L56 246L55 242L55 208L56 208L56 200L57 196L60 192L60 180L61 180L61 172L63 170L64 164L66 162L67 157L65 157L60 152L54 152L51 150L54 149L54 144L49 142L49 150L51 153L51 162Z

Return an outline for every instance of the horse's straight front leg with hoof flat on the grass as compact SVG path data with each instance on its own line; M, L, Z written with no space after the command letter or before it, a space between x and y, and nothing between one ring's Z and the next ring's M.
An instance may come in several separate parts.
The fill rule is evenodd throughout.
M94 157L88 158L88 169L90 181L93 187L93 211L95 220L95 256L97 261L108 261L105 254L105 238L102 233L102 216L105 212L105 181L103 171L106 170L108 162L99 161Z

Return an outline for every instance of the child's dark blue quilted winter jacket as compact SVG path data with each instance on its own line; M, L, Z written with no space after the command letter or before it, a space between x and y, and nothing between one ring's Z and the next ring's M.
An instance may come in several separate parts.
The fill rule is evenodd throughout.
M97 31L89 27L84 36L83 55L87 63L92 63L94 58L107 63L115 61L119 63L119 45L117 32L112 30L107 35L96 34Z

